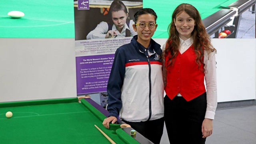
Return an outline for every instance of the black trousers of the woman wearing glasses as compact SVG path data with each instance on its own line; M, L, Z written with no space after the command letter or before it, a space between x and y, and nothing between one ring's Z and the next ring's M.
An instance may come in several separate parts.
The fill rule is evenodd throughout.
M126 120L122 121L124 121L126 124L130 124L134 130L142 134L142 136L146 137L154 144L160 144L164 130L164 118L148 120L145 122L128 122Z

